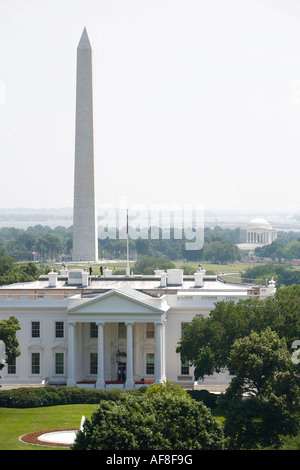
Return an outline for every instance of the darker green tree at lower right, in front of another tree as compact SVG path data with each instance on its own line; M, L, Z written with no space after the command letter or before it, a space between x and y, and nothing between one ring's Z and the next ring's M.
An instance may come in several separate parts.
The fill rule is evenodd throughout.
M300 374L284 339L270 328L235 341L229 367L235 376L219 407L230 447L280 446L299 426Z

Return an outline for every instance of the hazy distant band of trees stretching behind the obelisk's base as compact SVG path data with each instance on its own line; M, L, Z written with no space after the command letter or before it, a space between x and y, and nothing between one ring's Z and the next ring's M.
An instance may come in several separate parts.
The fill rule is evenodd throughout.
M36 260L60 260L61 257L71 257L72 254L73 227L57 226L51 229L49 226L35 225L27 229L4 227L0 229L0 247L19 261ZM294 256L298 253L299 234L295 232L279 232L278 238L273 244L261 248L257 256L278 257L279 249L283 257ZM170 260L210 261L213 263L227 263L240 260L243 252L236 246L240 241L240 229L222 228L204 229L204 246L201 250L187 250L185 239L174 238L173 229L170 230L170 238L151 239L150 229L147 239L139 238L129 241L131 259L144 257L164 257ZM289 244L293 243L290 250ZM277 251L276 251L277 250ZM275 253L276 251L276 253ZM299 256L300 257L300 256ZM126 259L126 240L99 239L100 259Z

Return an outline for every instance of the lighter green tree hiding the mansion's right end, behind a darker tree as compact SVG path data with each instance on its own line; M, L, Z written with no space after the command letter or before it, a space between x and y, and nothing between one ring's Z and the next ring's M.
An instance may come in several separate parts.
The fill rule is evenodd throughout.
M300 338L300 285L282 287L265 300L217 302L209 316L197 315L184 329L177 346L183 360L195 366L195 378L229 369L233 343L268 326L288 346Z

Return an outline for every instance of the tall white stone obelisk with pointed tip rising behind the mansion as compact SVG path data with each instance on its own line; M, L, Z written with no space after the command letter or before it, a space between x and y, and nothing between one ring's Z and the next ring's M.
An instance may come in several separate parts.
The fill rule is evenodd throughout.
M73 261L98 261L92 48L84 28L77 48Z

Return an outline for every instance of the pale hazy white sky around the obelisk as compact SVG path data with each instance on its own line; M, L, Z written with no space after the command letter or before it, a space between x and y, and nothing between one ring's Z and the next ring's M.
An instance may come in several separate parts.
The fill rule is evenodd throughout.
M73 206L85 26L98 206L300 210L299 0L0 0L0 207Z

